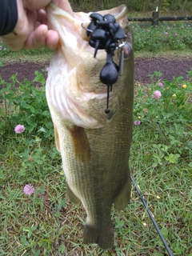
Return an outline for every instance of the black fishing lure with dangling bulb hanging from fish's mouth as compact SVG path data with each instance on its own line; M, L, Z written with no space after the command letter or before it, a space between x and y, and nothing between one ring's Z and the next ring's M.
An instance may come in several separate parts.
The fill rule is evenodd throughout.
M121 49L125 45L126 34L122 27L118 25L111 14L101 15L98 13L90 14L90 24L86 29L86 34L90 37L89 44L94 47L94 58L98 49L106 50L106 64L100 72L100 80L107 86L106 114L110 113L109 98L112 86L118 80L118 72L122 74L122 54L119 66L113 61L114 50ZM83 27L83 24L82 24ZM124 41L123 41L124 40Z

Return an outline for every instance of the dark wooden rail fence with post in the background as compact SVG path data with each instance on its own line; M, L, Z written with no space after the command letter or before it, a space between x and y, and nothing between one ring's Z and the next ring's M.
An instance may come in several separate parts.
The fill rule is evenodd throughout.
M158 26L158 22L169 21L191 21L192 16L162 16L159 17L158 7L152 12L152 17L148 18L128 18L130 22L151 22L152 26Z

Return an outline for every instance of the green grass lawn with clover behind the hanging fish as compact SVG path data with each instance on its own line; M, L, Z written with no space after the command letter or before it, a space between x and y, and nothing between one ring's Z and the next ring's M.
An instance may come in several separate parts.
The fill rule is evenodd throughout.
M153 33L158 40L161 38L158 34L164 30L159 28L157 32L156 29ZM174 29L170 28L173 30L171 40L176 37ZM146 36L147 42L150 32L146 32L135 33L136 43L139 36ZM183 29L178 33L182 34ZM155 43L151 41L150 46ZM174 49L176 55L178 50L180 54L189 54L190 43L185 42L182 49ZM178 42L178 46L180 44ZM141 50L136 48L136 54L144 50L149 56L160 53L156 46L153 46L154 51L147 47L145 44ZM166 49L166 54L167 51L170 53L170 48ZM22 51L5 52L1 55L2 63L10 61L11 54L21 61L19 56L26 55ZM161 52L165 53L163 47ZM50 58L49 50L32 51L29 55L43 61L45 53ZM162 81L161 74L155 72L149 85L135 88L130 166L173 254L191 256L192 74L189 70L186 81L175 76L173 82ZM0 80L0 85L4 86L0 95L0 254L166 255L134 187L126 210L112 210L114 249L103 251L96 245L82 244L86 214L81 205L74 206L66 197L61 157L54 146L46 105L45 80L42 74L36 73L34 82L42 83L41 90L34 88L34 82L27 79L13 89L15 81L16 76L9 84ZM160 98L152 97L155 90L161 93ZM22 134L14 132L18 124L26 127ZM24 194L26 184L34 186L34 194Z

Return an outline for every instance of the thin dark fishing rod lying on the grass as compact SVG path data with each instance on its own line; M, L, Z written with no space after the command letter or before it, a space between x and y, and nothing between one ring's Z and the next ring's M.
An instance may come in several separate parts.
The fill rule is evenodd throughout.
M142 203L145 206L147 213L150 215L150 219L153 222L155 229L158 231L158 235L162 239L162 242L163 242L164 246L166 247L168 254L170 256L174 256L174 254L172 254L172 252L170 250L170 247L167 245L165 238L163 238L162 232L161 232L161 230L159 230L158 224L157 224L157 222L155 222L154 216L151 213L150 208L147 206L146 200L145 200L145 198L143 198L141 191L139 190L137 184L134 181L134 178L131 175L130 175L130 178L131 178L131 181L134 183L134 188L135 188L135 190L137 190L138 195L139 195L140 199L142 200Z

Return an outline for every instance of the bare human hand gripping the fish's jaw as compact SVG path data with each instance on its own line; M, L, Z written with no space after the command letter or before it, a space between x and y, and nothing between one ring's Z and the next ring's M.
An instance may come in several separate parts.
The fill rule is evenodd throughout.
M43 9L50 1L17 0L18 22L14 31L3 35L1 41L13 50L55 49L58 46L58 33L48 29L46 10ZM57 1L54 0L56 4Z

